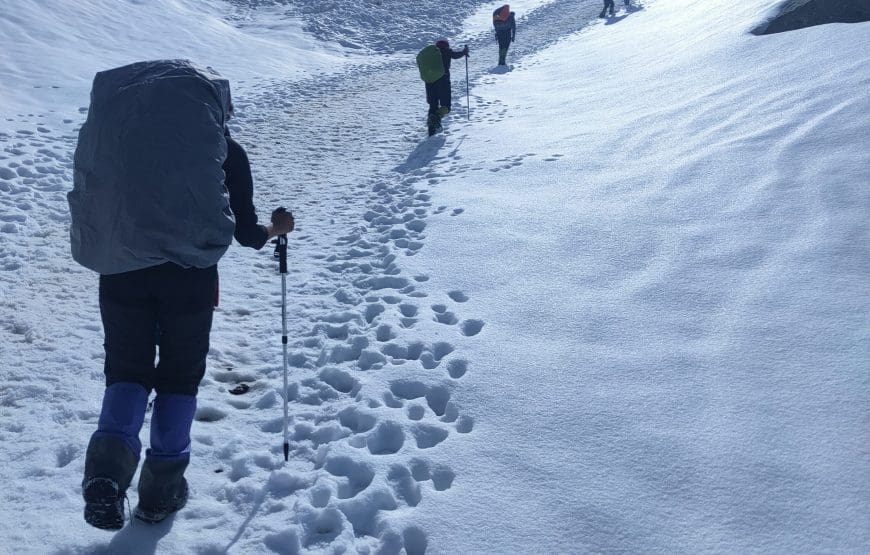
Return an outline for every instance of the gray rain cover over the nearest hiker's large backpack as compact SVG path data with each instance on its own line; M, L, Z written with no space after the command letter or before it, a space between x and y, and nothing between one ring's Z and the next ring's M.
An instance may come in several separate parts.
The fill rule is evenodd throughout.
M67 195L73 259L100 274L217 264L235 228L229 107L229 82L187 60L97 73Z

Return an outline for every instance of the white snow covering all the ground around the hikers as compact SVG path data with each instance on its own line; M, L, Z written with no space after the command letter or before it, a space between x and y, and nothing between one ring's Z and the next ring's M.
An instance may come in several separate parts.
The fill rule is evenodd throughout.
M870 551L870 24L528 0L504 69L483 2L50 4L0 13L0 552ZM471 113L459 60L426 138L442 35ZM166 56L297 215L291 460L277 264L234 246L190 503L108 534L65 195L93 73Z

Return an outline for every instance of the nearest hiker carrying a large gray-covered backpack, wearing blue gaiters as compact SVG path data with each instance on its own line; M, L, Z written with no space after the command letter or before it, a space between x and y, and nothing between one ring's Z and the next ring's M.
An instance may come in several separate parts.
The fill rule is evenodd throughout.
M124 526L152 390L134 516L160 522L187 502L217 262L233 237L260 249L293 230L283 210L257 223L248 158L226 130L231 114L229 83L186 60L94 78L68 200L73 258L100 274L106 389L82 480L84 518L97 528Z

